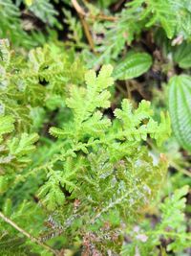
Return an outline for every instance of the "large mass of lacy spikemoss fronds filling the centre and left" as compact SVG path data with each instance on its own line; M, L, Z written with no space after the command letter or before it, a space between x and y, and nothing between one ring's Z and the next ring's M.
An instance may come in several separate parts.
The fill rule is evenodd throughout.
M156 197L157 188L165 176L165 161L159 160L159 165L155 166L142 142L150 136L160 145L170 133L169 118L161 114L158 123L153 119L149 102L142 101L138 109L133 110L128 100L123 100L121 109L115 110L113 120L103 115L103 109L110 106L109 88L114 83L111 65L103 66L97 77L95 71L88 71L85 74L86 86L72 85L69 93L66 87L65 94L58 86L55 90L54 85L61 85L65 77L66 81L73 81L71 65L66 69L67 60L59 62L56 54L59 55L59 48L53 46L37 48L30 52L26 65L22 58L11 57L7 40L1 41L1 84L6 84L1 87L0 119L3 212L21 226L35 215L39 220L36 228L28 224L27 232L31 233L30 236L42 236L43 241L54 235L59 238L60 234L64 247L72 246L75 250L74 241L78 238L84 253L92 250L105 253L107 249L119 252L122 237L118 228L121 222L130 224L138 219L138 212L141 213L141 209ZM17 72L12 73L16 63L19 64ZM65 72L60 73L62 64ZM26 72L26 68L30 72ZM46 86L40 84L43 79ZM48 103L47 94L60 97L58 105L56 101L54 105ZM65 103L63 106L61 101ZM57 122L60 128L50 128L57 141L45 139L40 134L43 120L40 127L36 126L35 115L31 114L29 126L27 115L19 112L23 109L23 113L31 113L36 107L45 112L47 108L54 111L56 107L63 107L66 114L70 112L68 121L61 114L65 122ZM51 150L49 145L52 145ZM40 151L45 151L42 157ZM33 182L37 182L35 186ZM14 196L16 191L22 196ZM33 207L32 197L40 199L42 207ZM12 210L6 210L8 206L13 207ZM54 230L52 225L51 236L40 235L43 220L52 216L53 211L56 213L53 221L59 222L58 227ZM131 218L127 221L129 216ZM5 234L3 229L1 235L11 239L15 230L9 227L8 234ZM31 249L38 250L33 248L33 241Z

